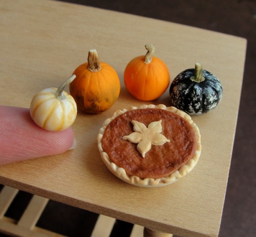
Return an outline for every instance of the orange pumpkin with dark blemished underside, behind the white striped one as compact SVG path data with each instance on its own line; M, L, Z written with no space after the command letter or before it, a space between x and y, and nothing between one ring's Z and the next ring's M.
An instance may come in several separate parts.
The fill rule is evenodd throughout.
M100 62L96 50L90 50L88 62L81 64L70 83L70 94L77 108L87 113L99 113L109 109L120 93L120 81L114 68Z

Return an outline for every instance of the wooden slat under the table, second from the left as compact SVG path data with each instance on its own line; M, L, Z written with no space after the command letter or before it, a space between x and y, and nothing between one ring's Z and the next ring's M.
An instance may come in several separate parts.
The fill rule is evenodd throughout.
M45 209L49 199L33 195L27 209L22 218L18 222L18 226L23 226L28 229L33 229Z

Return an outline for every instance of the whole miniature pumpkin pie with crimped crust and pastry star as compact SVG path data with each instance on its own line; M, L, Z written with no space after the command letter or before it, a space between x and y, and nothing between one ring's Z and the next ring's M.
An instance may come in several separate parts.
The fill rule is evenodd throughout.
M117 110L103 123L98 148L106 167L138 186L163 186L189 173L201 154L197 125L165 105Z

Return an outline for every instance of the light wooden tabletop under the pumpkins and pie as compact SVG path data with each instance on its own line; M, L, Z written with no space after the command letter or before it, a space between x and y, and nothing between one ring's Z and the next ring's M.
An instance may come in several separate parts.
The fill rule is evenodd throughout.
M116 178L103 164L97 134L117 109L141 104L171 106L168 90L152 102L138 101L123 84L134 57L155 45L171 80L202 63L223 84L215 110L193 116L202 136L194 170L176 183L143 188ZM121 81L109 110L78 113L77 148L0 167L0 182L62 203L179 236L217 236L220 228L243 78L246 40L176 23L55 1L0 3L0 104L29 107L35 92L58 87L96 49ZM68 91L68 89L66 89ZM0 153L1 155L1 153Z

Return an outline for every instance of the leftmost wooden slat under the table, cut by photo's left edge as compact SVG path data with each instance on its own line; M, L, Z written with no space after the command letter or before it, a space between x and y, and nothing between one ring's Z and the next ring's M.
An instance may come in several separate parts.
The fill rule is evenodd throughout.
M4 186L0 194L0 219L2 219L18 193L18 189Z

